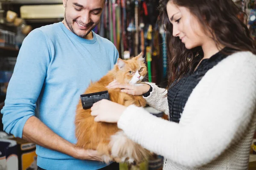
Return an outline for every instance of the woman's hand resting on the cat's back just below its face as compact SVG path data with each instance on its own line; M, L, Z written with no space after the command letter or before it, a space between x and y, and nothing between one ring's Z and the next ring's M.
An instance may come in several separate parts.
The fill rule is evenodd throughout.
M150 85L145 83L136 85L120 84L119 82L116 82L116 80L114 80L113 82L109 83L107 88L121 88L121 92L134 96L141 96L149 91Z

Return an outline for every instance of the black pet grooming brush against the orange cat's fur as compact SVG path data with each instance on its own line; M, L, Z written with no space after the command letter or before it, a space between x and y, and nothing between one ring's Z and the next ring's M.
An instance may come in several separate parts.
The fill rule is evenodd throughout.
M108 99L109 94L108 91L100 91L96 93L90 93L90 94L82 94L81 96L81 103L83 106L83 109L89 109L93 106L93 103L96 103L102 99Z

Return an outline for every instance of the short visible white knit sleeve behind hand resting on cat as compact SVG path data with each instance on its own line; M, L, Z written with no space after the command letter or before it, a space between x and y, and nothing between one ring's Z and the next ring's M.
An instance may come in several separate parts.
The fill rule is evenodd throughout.
M147 101L148 105L157 109L158 111L163 111L169 114L169 106L167 101L167 90L164 88L159 88L155 83L145 82L152 87L152 91L149 96L143 98Z

